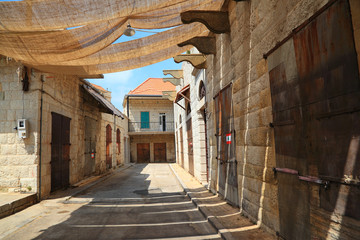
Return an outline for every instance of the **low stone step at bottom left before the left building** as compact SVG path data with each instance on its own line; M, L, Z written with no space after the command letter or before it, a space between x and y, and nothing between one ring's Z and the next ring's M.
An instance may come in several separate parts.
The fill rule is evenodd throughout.
M19 212L37 202L36 193L0 206L0 219Z

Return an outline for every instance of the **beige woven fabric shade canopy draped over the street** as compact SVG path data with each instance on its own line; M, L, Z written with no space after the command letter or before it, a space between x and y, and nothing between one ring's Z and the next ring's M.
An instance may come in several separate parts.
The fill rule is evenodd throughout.
M219 10L223 0L25 0L0 2L0 54L36 69L94 75L166 60L189 49L177 44L208 35L180 13ZM128 24L169 30L113 44Z

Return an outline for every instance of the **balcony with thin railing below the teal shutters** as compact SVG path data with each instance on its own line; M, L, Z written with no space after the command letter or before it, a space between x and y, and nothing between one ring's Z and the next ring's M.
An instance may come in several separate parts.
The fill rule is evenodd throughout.
M174 122L129 122L129 133L174 133Z

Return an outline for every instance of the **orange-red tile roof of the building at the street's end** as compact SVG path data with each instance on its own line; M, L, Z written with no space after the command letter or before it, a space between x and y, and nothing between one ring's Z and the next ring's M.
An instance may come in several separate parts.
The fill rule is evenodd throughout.
M148 78L137 88L130 91L129 95L162 95L162 91L175 91L175 85L164 82L162 78Z

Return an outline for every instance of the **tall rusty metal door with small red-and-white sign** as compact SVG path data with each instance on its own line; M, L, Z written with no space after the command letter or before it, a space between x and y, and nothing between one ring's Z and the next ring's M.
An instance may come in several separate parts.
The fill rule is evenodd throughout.
M238 206L238 175L231 84L215 96L215 113L219 193L231 204Z

